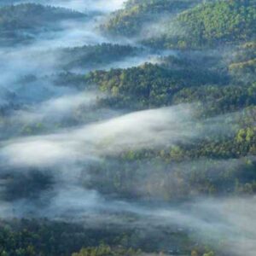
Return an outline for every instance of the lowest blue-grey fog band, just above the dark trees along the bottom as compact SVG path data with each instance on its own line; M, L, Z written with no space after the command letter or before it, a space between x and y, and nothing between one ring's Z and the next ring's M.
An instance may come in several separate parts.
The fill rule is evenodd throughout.
M95 191L64 185L55 193L49 207L37 211L31 201L16 201L11 206L3 203L1 216L34 217L36 213L40 217L70 219L95 228L105 224L140 227L146 234L154 232L158 236L163 236L166 228L186 230L195 241L211 244L216 250L231 255L246 253L253 256L256 249L254 206L255 198L231 197L218 200L198 198L181 205L151 204L148 207L143 202L106 201ZM129 218L131 214L132 218Z

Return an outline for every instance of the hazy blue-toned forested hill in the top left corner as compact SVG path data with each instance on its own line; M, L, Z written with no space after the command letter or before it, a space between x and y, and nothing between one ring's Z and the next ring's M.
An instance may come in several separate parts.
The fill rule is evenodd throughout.
M21 3L0 8L0 44L26 41L38 30L56 26L56 22L85 17L73 10Z

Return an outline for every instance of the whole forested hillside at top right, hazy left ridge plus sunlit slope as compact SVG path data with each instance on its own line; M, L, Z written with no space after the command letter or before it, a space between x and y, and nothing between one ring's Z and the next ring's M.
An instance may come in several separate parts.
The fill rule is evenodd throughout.
M102 28L115 35L135 36L150 31L149 23L152 30L158 30L146 41L152 46L216 47L255 38L255 9L253 0L128 2L126 8L113 14Z

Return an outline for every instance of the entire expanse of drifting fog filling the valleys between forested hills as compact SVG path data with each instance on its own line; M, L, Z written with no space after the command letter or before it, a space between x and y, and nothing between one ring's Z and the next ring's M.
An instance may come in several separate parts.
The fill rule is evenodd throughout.
M96 84L84 84L86 73L160 63L165 56L178 56L177 51L156 54L140 48L134 38L105 37L99 25L125 1L0 4L28 2L73 9L86 16L57 21L35 32L29 43L0 47L0 218L49 218L93 228L139 227L145 236L154 232L165 236L166 228L182 230L195 243L210 244L229 255L253 256L255 197L206 197L199 188L189 188L188 180L196 170L206 173L212 183L218 182L218 175L227 169L240 172L255 158L172 162L159 156L161 150L180 145L193 147L216 137L236 136L243 128L237 118L246 110L203 118L197 103L132 112L107 108L102 100L111 96ZM153 37L154 31L165 33L165 23L166 17L161 17L144 26L146 31L137 39ZM173 27L173 33L178 32L182 31ZM69 59L61 52L74 47L82 52L83 46L104 43L131 45L137 51L117 60L109 55L110 61L101 60L96 67L88 59L86 65L63 68ZM55 83L63 73L79 78L79 86L73 81ZM150 159L152 152L158 152L155 159ZM137 160L136 154L142 154L142 159ZM182 170L180 176L177 170ZM115 178L123 171L126 187L117 189ZM168 193L178 195L182 184L187 189L181 201L165 199Z

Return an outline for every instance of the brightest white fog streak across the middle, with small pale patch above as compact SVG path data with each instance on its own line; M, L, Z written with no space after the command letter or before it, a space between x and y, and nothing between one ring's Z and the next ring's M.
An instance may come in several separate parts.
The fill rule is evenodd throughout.
M56 119L73 112L80 104L92 104L96 96L66 96L44 102L38 113L17 113L21 119ZM75 102L74 102L75 101ZM102 122L81 125L67 131L55 131L46 136L21 137L3 141L1 156L16 166L48 166L55 161L83 160L120 154L129 150L170 147L177 143L192 143L204 137L232 135L233 122L227 116L196 120L193 106L177 105L170 108L127 113ZM214 125L212 125L214 124ZM233 130L237 131L239 127ZM40 154L38 154L40 150Z

